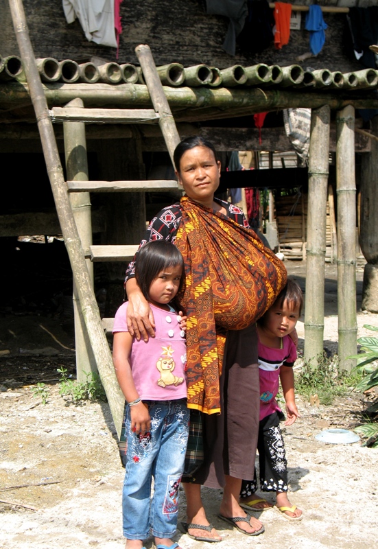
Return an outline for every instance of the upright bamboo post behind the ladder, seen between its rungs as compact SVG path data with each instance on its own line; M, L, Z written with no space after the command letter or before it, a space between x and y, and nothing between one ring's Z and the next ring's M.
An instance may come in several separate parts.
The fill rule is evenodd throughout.
M67 107L83 106L84 103L81 99L75 99L67 105ZM63 132L67 179L88 181L85 124L83 122L63 122ZM86 250L92 245L91 197L89 193L71 193L69 199L80 240ZM93 289L93 263L90 259L86 259L86 267ZM79 382L85 382L85 373L97 373L97 366L81 313L75 282L73 283L73 314L75 319L76 377Z

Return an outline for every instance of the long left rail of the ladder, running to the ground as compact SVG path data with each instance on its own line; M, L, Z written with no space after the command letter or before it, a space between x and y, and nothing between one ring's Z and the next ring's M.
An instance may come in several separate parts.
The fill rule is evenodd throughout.
M76 228L75 220L73 218L67 186L64 182L62 165L56 147L54 130L49 118L43 86L41 85L40 77L36 69L36 62L34 60L32 43L30 42L29 31L27 29L23 3L22 0L9 0L9 3L14 32L21 52L27 82L29 83L30 95L36 111L36 119L38 121L40 139L45 155L47 173L49 174L56 211L64 237L64 244L66 245L72 267L73 280L75 281L75 286L78 290L83 318L89 339L91 340L99 375L101 376L102 384L106 396L108 397L113 421L115 422L117 433L120 434L124 398L117 383L117 378L115 377L108 342L104 330L102 329L97 302L91 288L91 279L88 274L88 269L86 268L86 261L80 244L78 229Z

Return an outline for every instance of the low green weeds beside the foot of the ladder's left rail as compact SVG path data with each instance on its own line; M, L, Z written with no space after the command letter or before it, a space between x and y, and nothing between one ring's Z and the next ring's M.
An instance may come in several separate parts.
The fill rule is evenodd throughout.
M106 401L106 394L99 375L84 372L86 375L85 382L76 382L67 376L67 369L64 366L57 371L60 373L59 394L62 397L69 397L75 404L84 400Z

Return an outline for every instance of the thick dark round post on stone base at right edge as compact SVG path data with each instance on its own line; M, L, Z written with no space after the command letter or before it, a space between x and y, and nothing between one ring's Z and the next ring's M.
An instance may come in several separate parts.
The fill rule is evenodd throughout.
M378 135L378 116L373 118L373 134ZM372 139L371 152L362 155L361 220L359 245L366 259L362 308L378 312L378 141Z

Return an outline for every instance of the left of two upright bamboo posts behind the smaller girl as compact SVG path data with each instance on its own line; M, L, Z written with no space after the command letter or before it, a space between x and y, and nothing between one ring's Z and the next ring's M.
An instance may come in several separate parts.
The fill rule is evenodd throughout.
M323 352L324 261L330 108L311 111L309 197L307 211L307 271L305 292L305 359L317 363Z

